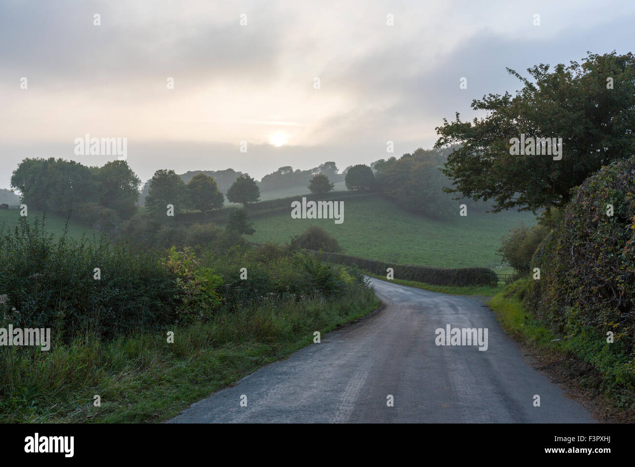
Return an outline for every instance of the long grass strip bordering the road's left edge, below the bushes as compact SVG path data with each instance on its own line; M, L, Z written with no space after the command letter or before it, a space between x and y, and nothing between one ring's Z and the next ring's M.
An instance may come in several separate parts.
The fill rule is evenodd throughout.
M1 422L157 422L379 305L369 289L262 304L206 323L111 342L3 347ZM168 329L166 329L167 332ZM93 406L100 395L101 407Z

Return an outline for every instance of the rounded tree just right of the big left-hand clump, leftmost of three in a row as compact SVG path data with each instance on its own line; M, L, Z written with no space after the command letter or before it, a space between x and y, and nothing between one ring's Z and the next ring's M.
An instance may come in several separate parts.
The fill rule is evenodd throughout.
M154 172L150 179L145 206L153 217L165 220L167 205L173 205L174 213L177 214L189 208L190 200L181 177L174 170L161 169Z

